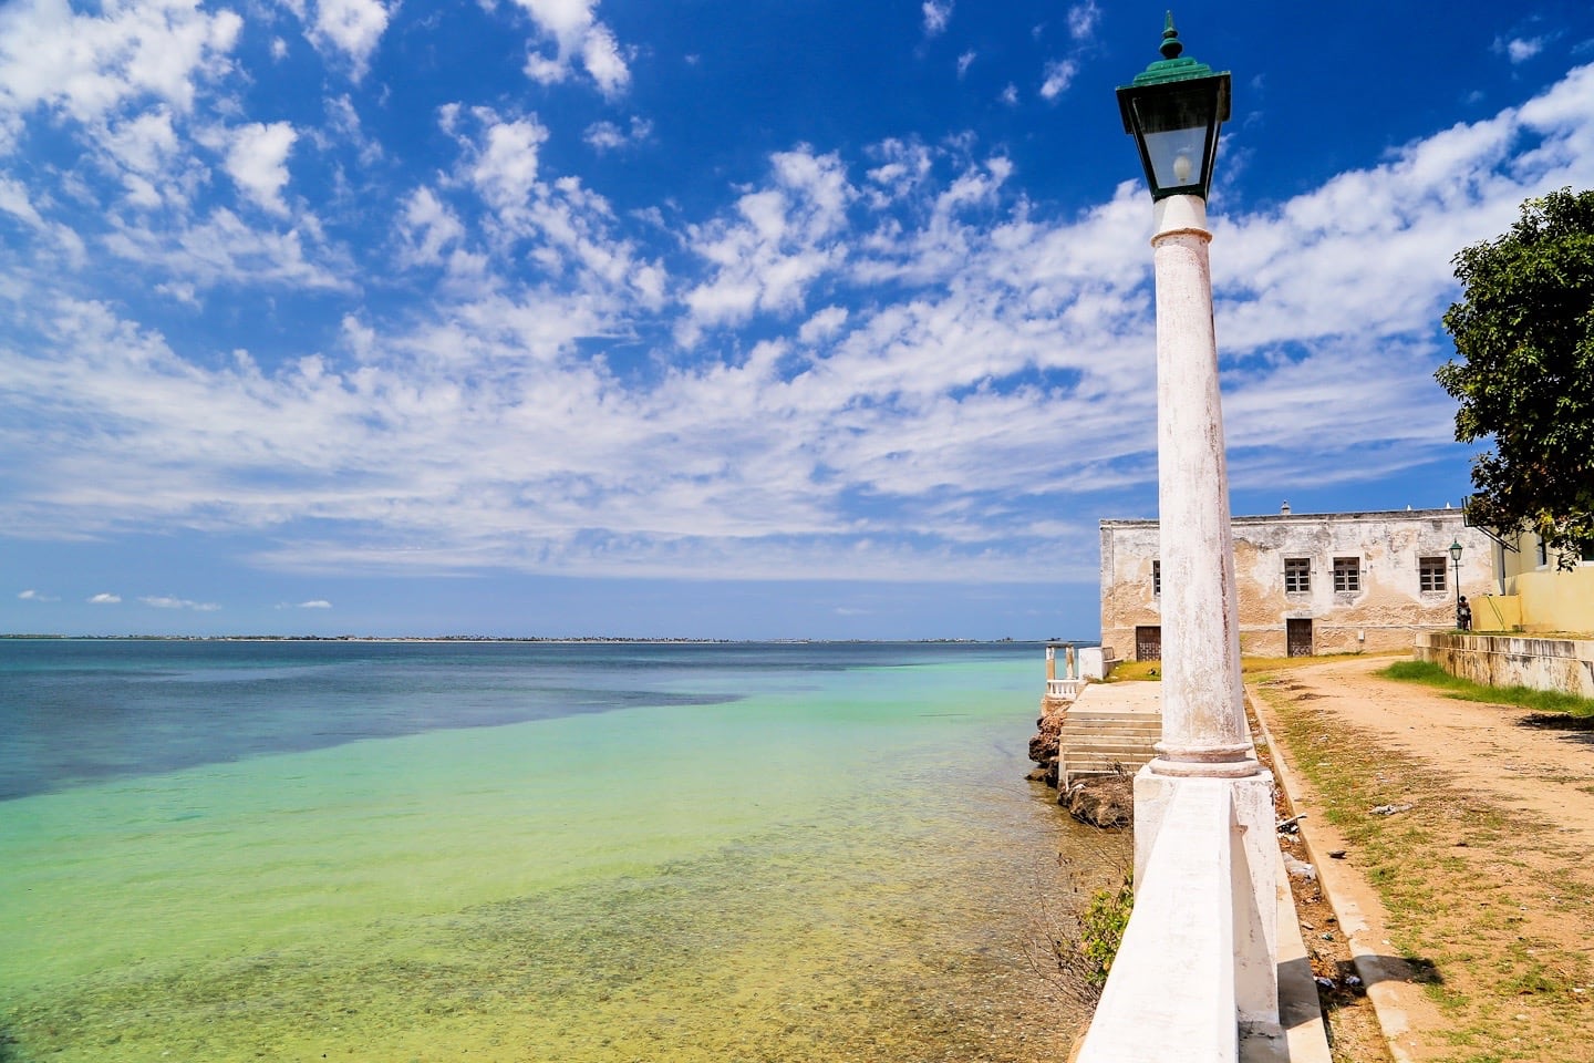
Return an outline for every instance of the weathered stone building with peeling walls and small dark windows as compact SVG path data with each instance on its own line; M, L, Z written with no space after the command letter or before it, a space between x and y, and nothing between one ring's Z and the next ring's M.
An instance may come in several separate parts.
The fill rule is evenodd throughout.
M1240 652L1248 657L1411 649L1455 626L1460 593L1498 586L1494 543L1460 510L1235 516ZM1457 566L1451 545L1462 545ZM1101 644L1162 657L1157 521L1101 521Z

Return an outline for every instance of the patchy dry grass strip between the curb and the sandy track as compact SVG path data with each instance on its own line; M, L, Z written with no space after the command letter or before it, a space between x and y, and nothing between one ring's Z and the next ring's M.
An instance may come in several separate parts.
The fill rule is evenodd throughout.
M1556 824L1459 787L1298 700L1288 674L1256 688L1323 811L1380 896L1392 945L1430 972L1460 1063L1594 1060L1588 936L1594 886ZM1412 811L1371 814L1379 805ZM1581 991L1580 991L1581 990Z

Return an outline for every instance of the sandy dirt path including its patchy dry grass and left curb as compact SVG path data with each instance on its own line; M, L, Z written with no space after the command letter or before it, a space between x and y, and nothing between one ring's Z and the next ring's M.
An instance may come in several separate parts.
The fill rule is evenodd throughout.
M1594 730L1372 674L1387 665L1251 690L1353 948L1388 958L1369 991L1396 1058L1594 1060Z

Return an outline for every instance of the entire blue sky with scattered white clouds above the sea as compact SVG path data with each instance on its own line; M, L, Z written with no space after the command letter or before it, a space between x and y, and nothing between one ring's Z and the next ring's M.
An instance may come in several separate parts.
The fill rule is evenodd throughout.
M1457 504L1586 2L1191 2L1235 512ZM1157 5L8 0L0 631L1049 637L1156 512Z

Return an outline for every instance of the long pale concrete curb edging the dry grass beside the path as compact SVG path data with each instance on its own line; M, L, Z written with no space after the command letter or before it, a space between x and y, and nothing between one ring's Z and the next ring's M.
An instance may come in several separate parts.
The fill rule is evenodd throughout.
M1388 913L1384 912L1369 889L1355 888L1353 870L1328 856L1331 849L1345 848L1344 838L1328 826L1321 810L1310 802L1312 790L1296 776L1283 747L1274 741L1272 732L1267 728L1267 716L1262 712L1264 700L1253 695L1250 688L1245 692L1245 700L1262 728L1262 741L1267 743L1267 751L1272 754L1274 776L1278 779L1278 786L1290 795L1290 803L1298 813L1309 805L1317 813L1315 819L1307 818L1301 824L1301 841L1317 869L1323 897L1334 910L1339 929L1350 945L1350 961L1366 987L1372 1012L1377 1015L1384 1039L1390 1045L1390 1055L1395 1057L1395 1063L1415 1063L1422 1057L1411 1028L1406 998L1409 993L1420 993L1420 990L1408 982L1406 964L1387 951L1390 943L1382 928L1388 924ZM1356 892L1368 896L1366 910L1353 897ZM1315 991L1313 988L1313 994Z

